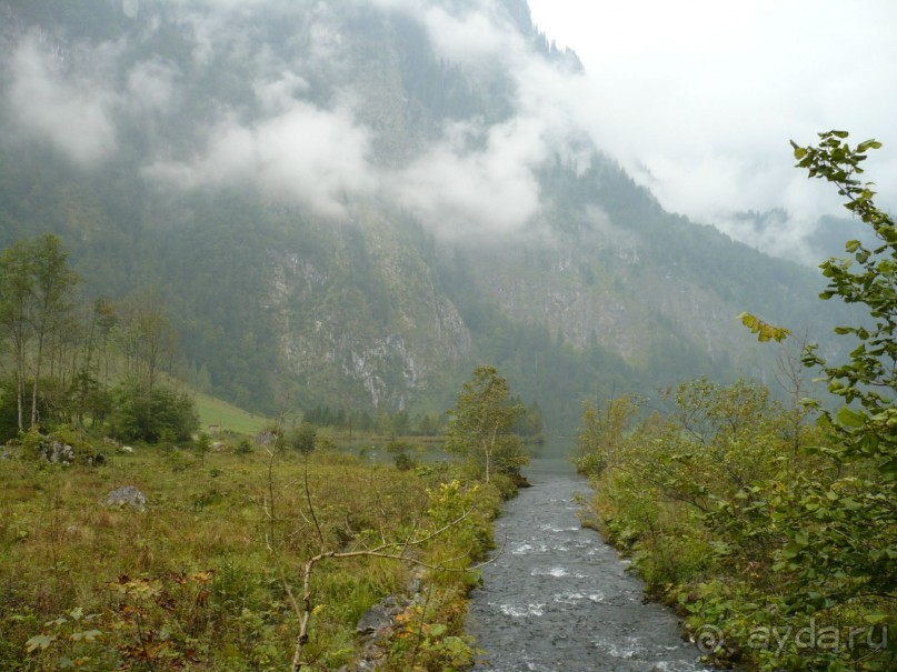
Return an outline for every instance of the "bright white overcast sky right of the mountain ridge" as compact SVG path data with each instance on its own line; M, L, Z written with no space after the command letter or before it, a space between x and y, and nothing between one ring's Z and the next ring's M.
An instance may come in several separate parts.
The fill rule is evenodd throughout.
M793 168L789 139L850 131L879 204L897 209L897 2L529 0L587 70L592 136L669 210L765 248L798 244L837 194ZM731 212L783 207L767 240Z

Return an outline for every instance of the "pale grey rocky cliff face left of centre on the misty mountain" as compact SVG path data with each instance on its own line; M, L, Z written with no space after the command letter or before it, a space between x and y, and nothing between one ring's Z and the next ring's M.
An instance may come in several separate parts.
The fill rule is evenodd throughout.
M303 387L405 410L474 345L433 270L388 223L331 231L332 248L315 258L269 250L271 307L285 367Z

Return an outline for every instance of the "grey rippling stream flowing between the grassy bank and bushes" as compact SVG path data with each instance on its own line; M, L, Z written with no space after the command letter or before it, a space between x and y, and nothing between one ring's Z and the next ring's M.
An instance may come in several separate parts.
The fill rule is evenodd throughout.
M669 610L642 600L644 584L601 536L580 526L574 501L588 483L566 460L534 460L496 521L504 551L482 570L468 632L496 672L696 672L699 652Z

